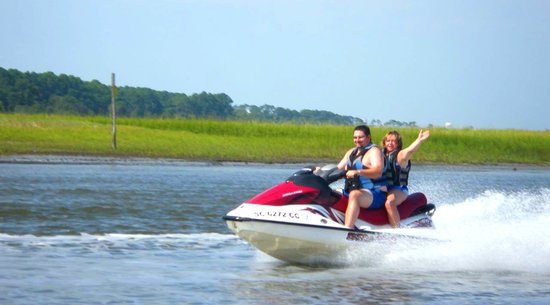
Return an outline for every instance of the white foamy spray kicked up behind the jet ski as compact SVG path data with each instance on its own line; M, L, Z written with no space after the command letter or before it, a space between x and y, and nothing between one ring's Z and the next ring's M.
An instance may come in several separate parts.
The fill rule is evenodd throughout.
M431 235L442 241L380 241L348 253L351 264L401 271L550 273L550 189L485 191L438 206Z

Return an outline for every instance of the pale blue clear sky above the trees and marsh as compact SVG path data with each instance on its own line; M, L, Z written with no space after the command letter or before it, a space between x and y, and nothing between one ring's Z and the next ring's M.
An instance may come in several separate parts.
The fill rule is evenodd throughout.
M546 0L0 0L0 67L418 126L550 129Z

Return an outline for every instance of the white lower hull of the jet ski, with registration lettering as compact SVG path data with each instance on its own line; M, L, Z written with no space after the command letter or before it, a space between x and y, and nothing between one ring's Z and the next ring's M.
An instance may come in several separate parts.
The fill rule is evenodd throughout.
M310 216L309 223L239 216L225 216L224 220L231 231L258 250L285 262L304 265L339 264L350 248L372 241L421 238L384 227L352 230L329 221L325 225L316 225L311 223L317 222L317 215ZM431 220L425 215L418 215L409 221L428 223Z

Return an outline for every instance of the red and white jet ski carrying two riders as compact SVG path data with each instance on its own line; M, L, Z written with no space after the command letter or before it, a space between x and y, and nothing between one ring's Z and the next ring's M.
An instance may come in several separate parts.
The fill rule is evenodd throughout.
M422 238L433 228L435 206L422 193L398 206L401 228L392 229L386 209L361 209L355 228L344 226L348 198L334 186L345 177L335 165L305 167L284 182L246 200L223 219L238 237L289 263L331 263L349 247L381 238Z

